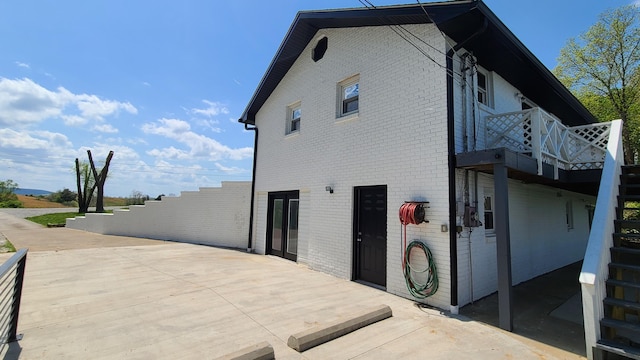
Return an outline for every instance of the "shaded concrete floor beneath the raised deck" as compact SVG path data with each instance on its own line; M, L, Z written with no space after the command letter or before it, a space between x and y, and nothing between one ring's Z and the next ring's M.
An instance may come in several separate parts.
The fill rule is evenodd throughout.
M586 356L577 262L513 288L513 333ZM466 305L460 314L499 327L498 294Z

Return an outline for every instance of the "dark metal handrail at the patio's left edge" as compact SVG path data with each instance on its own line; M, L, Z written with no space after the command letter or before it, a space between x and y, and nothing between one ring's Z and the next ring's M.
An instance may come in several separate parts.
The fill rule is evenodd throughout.
M21 335L18 335L18 315L27 264L27 251L27 249L18 250L9 260L0 265L2 283L0 293L8 290L8 294L10 294L10 296L2 297L0 301L0 308L9 310L0 312L0 346L3 351L8 343L21 339ZM7 279L10 281L6 281Z

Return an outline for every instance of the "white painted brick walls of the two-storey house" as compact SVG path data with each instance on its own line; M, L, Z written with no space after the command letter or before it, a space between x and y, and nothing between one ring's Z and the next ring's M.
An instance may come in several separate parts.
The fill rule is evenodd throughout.
M316 39L328 37L324 58L311 60L315 40L311 41L257 114L254 247L260 253L266 251L268 193L300 190L298 262L350 279L354 187L387 185L387 291L411 297L401 270L397 212L406 200L428 200L430 222L410 226L407 240L422 240L431 249L440 289L427 303L448 308L449 233L441 232L440 225L455 231L456 224L448 223L445 42L431 25L407 28L442 49L424 46L438 64L387 27L321 30ZM454 62L454 70L458 69L459 62ZM359 114L336 119L337 84L356 74L360 76ZM492 73L492 81L493 107L480 106L476 118L470 110L472 83L465 84L467 125L471 130L477 126L479 149L484 147L485 115L520 110L518 89L497 73ZM462 84L460 78L454 81L457 152L463 150ZM300 131L287 136L287 105L298 101ZM470 134L469 150L473 141ZM464 211L463 175L464 171L457 171L459 224ZM473 193L473 181L470 184ZM334 188L334 194L324 190L326 185ZM483 189L493 188L492 178L480 176L478 188L483 199ZM581 258L588 235L584 205L593 198L566 191L558 197L553 188L517 181L509 181L509 191L514 284ZM571 231L565 224L567 199L574 203L576 223ZM483 228L472 230L465 229L458 237L461 306L497 290L495 239L486 237Z

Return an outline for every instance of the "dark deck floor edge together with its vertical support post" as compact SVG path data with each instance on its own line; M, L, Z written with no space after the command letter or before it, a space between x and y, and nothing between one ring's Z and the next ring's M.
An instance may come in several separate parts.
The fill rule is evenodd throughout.
M504 147L465 152L456 155L456 168L493 175L495 191L495 230L498 262L499 325L513 330L513 287L511 276L511 239L509 234L508 179L535 183L597 195L602 169L564 170L539 162L529 154Z

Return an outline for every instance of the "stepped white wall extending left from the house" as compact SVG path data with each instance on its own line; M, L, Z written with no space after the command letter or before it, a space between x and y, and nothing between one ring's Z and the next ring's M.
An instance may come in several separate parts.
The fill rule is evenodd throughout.
M124 235L246 249L251 182L222 182L219 188L184 191L179 197L147 201L67 219L67 227Z

